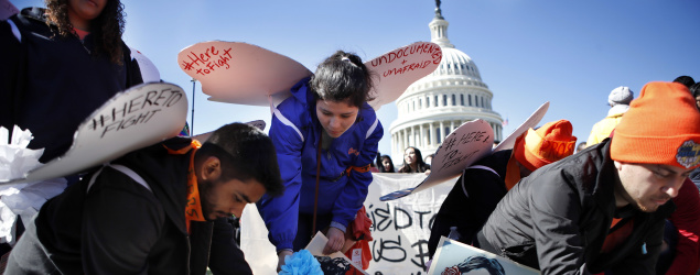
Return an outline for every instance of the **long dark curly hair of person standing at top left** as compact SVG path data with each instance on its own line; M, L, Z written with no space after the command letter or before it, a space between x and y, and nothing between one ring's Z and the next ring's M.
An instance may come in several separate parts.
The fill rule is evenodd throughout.
M68 0L46 0L46 23L54 24L61 36L76 35L68 20ZM107 0L103 12L91 21L94 55L106 54L111 63L122 65L121 34L126 13L120 0Z

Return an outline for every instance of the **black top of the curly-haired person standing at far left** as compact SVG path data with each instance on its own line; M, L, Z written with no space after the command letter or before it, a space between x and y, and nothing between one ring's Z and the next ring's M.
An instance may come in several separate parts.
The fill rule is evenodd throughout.
M120 4L109 2L106 10ZM0 45L8 53L0 65L0 125L30 129L34 139L29 147L45 148L44 163L68 150L77 125L95 109L142 82L120 33L111 46L120 50L119 57L114 57L94 37L98 32L82 40L60 35L55 24L46 23L45 12L28 8L0 22Z

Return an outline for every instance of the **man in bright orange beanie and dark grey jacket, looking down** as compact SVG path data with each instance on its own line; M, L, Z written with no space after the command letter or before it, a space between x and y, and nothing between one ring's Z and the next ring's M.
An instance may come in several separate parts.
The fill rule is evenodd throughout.
M542 274L654 274L669 200L699 165L688 88L647 84L612 139L520 180L476 244Z

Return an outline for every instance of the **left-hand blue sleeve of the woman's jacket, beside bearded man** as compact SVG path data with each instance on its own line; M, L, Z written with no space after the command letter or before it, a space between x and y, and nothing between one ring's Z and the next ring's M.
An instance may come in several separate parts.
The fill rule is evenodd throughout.
M277 150L277 161L284 184L284 194L273 198L266 195L258 202L258 211L270 231L270 242L280 251L291 250L297 237L303 140L295 125L286 118L280 120L277 116L272 116L270 139L272 139Z

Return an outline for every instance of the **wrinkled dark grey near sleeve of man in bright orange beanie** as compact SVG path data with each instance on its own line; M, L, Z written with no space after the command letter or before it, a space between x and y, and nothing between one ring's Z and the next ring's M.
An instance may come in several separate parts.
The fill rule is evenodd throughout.
M524 180L532 180L528 177ZM584 242L580 233L581 205L577 191L560 184L563 178L537 177L542 182L529 182L531 188L530 216L537 257L542 274L575 274L583 265ZM548 180L556 184L546 183ZM515 188L524 187L520 182ZM572 204L573 202L573 204Z

